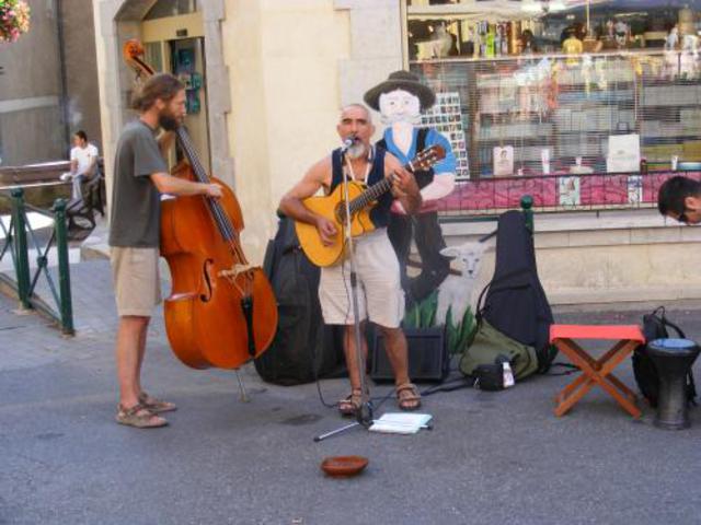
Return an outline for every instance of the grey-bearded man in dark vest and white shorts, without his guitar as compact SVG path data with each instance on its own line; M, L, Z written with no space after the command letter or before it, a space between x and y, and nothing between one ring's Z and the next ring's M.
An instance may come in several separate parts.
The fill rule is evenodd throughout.
M301 222L317 226L324 244L332 244L336 225L311 212L302 200L323 187L331 194L344 177L372 185L386 176L392 177L392 195L380 197L370 211L375 230L354 240L355 266L358 277L358 303L361 330L365 318L382 331L384 347L394 371L397 398L402 410L415 410L421 405L416 387L409 381L406 338L400 327L404 317L404 292L400 284L399 261L387 236L390 207L397 198L407 213L421 207L421 194L414 176L400 162L382 149L370 145L375 132L369 110L361 104L350 104L341 112L336 126L344 148L317 162L304 177L280 200L280 211ZM354 338L353 298L350 296L350 266L344 260L321 269L319 299L326 324L344 325L344 350L350 377L350 395L338 402L344 416L354 415L363 402L357 349ZM366 338L361 338L363 353L367 357Z

